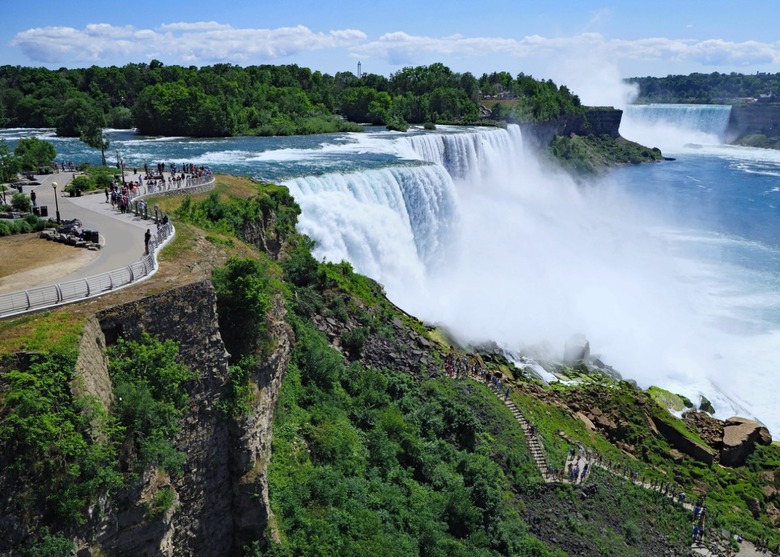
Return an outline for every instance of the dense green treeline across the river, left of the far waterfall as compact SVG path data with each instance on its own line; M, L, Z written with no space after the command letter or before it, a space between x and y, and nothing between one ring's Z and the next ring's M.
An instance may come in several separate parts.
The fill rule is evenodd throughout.
M483 98L499 98L492 110ZM409 124L528 121L581 110L565 86L507 72L456 73L443 64L390 77L335 76L286 66L166 66L48 70L0 66L0 127L56 128L64 137L104 127L147 135L299 135ZM95 139L98 143L100 138Z

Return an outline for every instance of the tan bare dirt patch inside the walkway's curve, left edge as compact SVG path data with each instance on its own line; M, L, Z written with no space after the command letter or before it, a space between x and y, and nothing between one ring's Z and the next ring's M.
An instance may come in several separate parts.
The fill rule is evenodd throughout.
M50 284L98 255L44 240L37 233L4 236L0 238L0 294Z

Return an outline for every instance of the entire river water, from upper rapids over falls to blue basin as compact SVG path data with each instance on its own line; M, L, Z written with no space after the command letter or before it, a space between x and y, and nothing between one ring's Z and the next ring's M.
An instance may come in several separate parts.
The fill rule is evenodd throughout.
M350 261L464 342L559 355L582 333L642 386L705 395L719 417L780 431L780 153L720 145L710 132L722 110L701 129L682 112L684 129L674 117L656 135L621 128L675 160L586 186L537 160L516 127L228 139L112 130L108 158L118 149L128 168L191 162L283 182L318 258ZM58 160L100 162L44 130L0 139L29 135L51 139Z

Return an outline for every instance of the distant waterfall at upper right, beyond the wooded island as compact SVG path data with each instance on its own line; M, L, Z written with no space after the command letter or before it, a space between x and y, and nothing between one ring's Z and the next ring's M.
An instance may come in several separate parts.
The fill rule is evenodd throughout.
M730 115L730 105L629 105L623 112L620 134L662 150L719 144L726 135Z

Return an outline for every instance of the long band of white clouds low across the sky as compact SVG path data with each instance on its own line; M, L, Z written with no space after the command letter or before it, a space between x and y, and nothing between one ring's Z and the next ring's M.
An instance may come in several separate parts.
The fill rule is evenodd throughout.
M590 25L598 25L609 12L597 12ZM778 43L741 43L711 39L637 40L610 39L600 33L569 37L442 37L412 35L403 31L385 33L369 40L358 29L315 32L303 25L274 29L237 28L216 21L171 22L154 28L92 23L83 29L42 27L17 34L11 45L33 62L72 64L124 64L157 57L166 63L210 64L275 63L290 56L314 51L347 49L353 57L373 60L375 65L405 66L441 61L456 71L464 66L484 66L489 61L499 69L520 70L561 65L566 59L589 59L595 63L621 62L643 71L655 63L690 71L736 71L780 62ZM593 66L585 64L585 66ZM708 70L711 69L711 70ZM327 70L326 70L327 71ZM490 70L488 70L490 71ZM528 72L528 70L524 70ZM531 72L533 73L533 72ZM633 75L639 75L635 73ZM541 77L541 76L540 76ZM544 76L546 77L546 76Z

